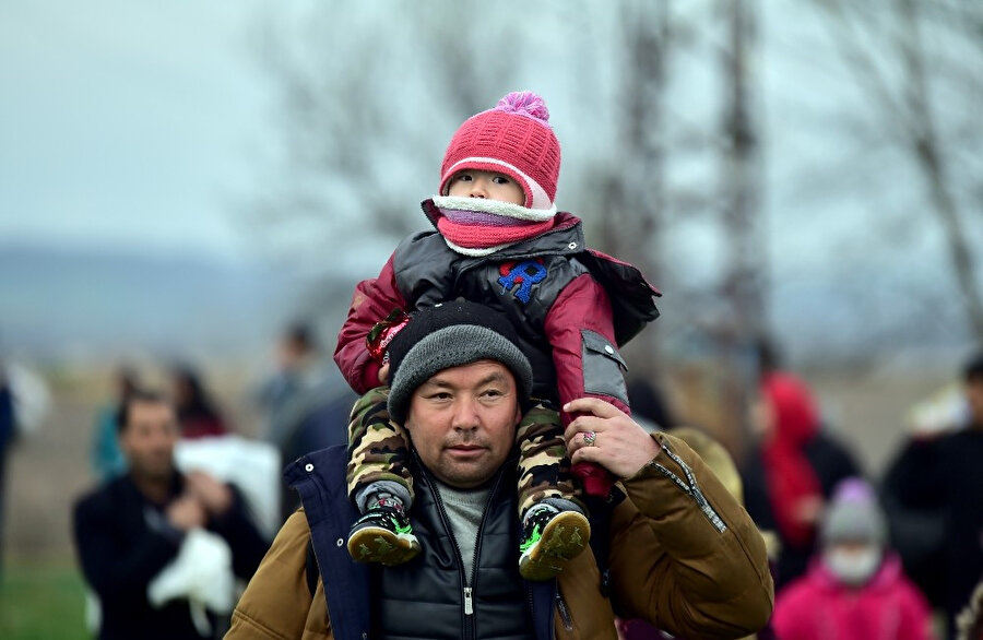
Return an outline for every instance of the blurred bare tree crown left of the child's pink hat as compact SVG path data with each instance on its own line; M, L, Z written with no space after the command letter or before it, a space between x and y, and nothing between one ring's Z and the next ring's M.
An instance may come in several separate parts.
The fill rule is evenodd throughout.
M508 49L484 56L460 3L441 12L391 4L384 25L379 11L336 10L312 11L299 28L270 21L259 38L285 138L250 222L319 271L364 252L366 238L394 247L422 227L414 202L436 188L446 144L434 132L449 138L462 115L487 108L488 87L513 67Z

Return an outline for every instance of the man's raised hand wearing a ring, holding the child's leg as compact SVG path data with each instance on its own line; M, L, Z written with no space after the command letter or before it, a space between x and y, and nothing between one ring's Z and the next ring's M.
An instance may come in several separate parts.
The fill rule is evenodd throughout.
M573 463L593 462L619 478L631 477L661 448L625 412L597 398L580 398L564 405L568 414L581 414L564 432ZM593 436L591 436L593 434Z

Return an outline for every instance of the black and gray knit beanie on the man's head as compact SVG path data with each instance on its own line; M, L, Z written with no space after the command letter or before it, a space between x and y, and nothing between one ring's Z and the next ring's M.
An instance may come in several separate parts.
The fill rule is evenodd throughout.
M505 316L475 303L457 300L413 312L389 344L389 415L403 423L416 389L443 369L477 360L497 360L516 377L520 405L532 393L532 367Z

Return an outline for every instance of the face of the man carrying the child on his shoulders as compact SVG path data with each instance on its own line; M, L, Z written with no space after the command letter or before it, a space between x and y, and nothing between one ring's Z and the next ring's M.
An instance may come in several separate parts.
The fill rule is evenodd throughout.
M437 479L470 489L490 481L508 459L521 415L511 371L478 360L421 384L410 401L406 429Z

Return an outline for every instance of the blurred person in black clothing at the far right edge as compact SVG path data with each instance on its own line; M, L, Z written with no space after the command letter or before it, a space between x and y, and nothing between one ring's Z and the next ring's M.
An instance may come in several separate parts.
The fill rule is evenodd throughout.
M966 424L952 431L916 432L885 476L885 497L912 577L946 613L948 637L956 615L983 578L983 351L962 371ZM903 519L903 520L902 520ZM904 523L922 522L913 530ZM911 540L921 535L923 540Z

